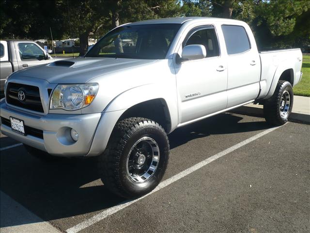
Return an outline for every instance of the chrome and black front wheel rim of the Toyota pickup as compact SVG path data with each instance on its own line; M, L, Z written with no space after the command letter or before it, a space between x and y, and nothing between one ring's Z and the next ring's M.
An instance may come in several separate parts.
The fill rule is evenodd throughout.
M151 137L140 138L130 149L127 156L127 175L135 183L149 180L159 163L159 147Z

